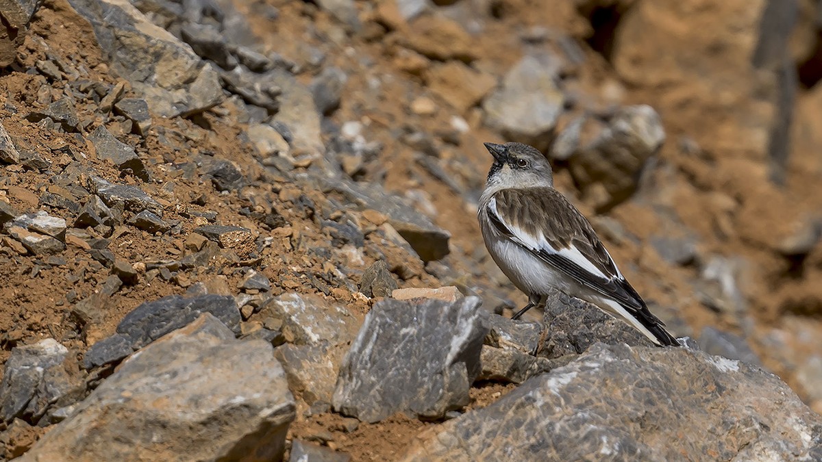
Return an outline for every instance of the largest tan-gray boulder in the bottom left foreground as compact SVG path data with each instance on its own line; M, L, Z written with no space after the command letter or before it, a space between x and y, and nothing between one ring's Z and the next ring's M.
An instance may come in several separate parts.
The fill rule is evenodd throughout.
M122 363L21 460L280 460L295 410L272 353L204 314Z

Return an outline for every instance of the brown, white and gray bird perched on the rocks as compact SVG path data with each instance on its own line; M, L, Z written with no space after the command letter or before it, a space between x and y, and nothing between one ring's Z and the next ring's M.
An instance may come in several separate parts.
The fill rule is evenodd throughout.
M493 164L478 205L483 240L496 265L529 303L552 289L593 303L658 346L679 346L649 311L599 240L588 219L554 189L551 164L533 146L484 143Z

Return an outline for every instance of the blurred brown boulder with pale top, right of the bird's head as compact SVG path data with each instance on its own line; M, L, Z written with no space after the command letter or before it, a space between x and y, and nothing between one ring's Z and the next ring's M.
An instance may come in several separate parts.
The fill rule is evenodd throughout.
M598 210L626 201L639 184L639 173L665 141L658 113L648 105L620 108L602 132L569 159L570 173L583 192L604 190Z

